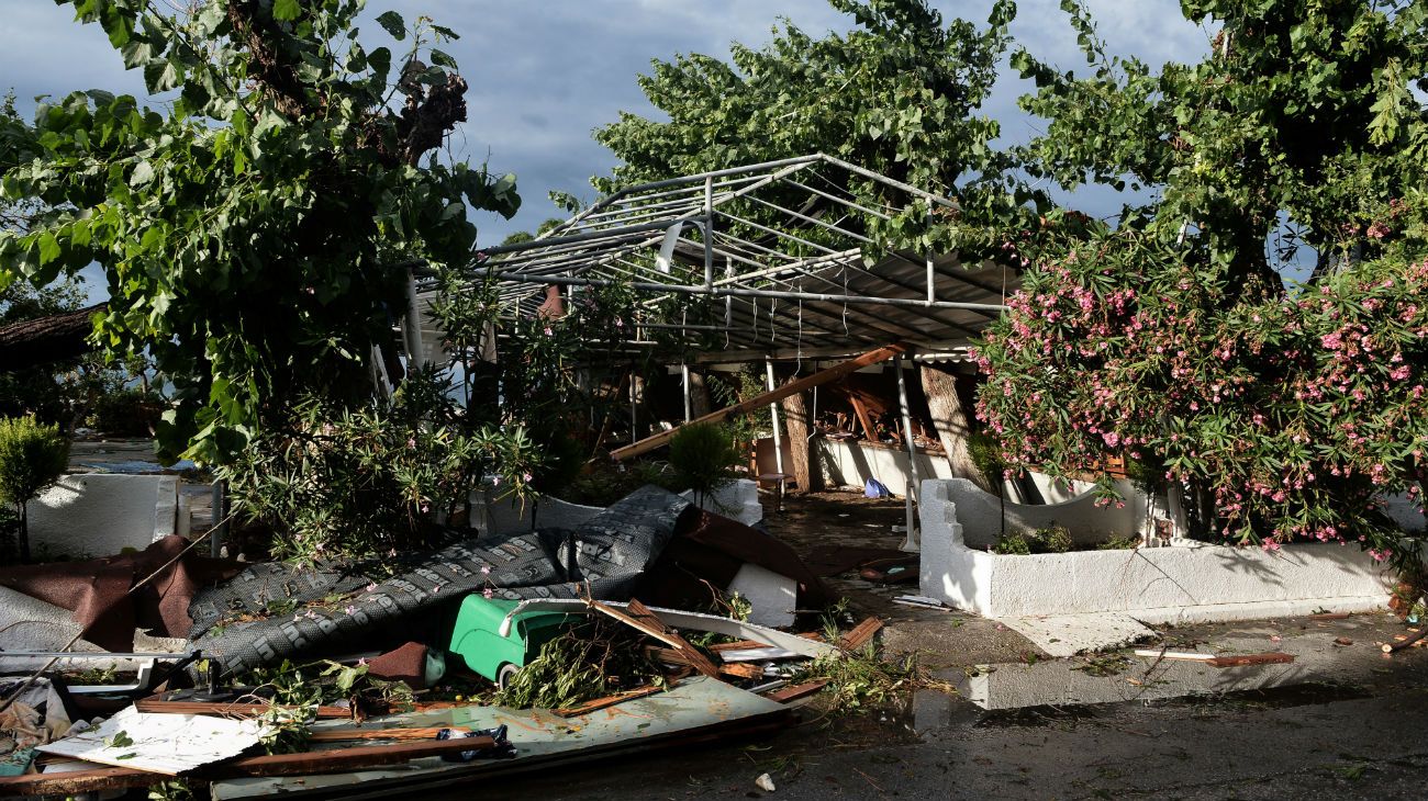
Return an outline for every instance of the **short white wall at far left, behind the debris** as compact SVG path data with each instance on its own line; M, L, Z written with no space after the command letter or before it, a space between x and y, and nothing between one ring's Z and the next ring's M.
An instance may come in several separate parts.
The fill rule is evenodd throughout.
M143 550L174 533L177 509L178 476L71 473L30 502L30 549L73 559Z

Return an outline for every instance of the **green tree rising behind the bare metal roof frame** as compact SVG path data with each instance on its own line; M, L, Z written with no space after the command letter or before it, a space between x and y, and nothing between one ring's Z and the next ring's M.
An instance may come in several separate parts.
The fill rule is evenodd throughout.
M595 178L595 188L824 153L960 201L957 218L931 218L917 207L885 225L870 219L874 238L894 247L990 252L987 225L1034 219L1021 205L1032 195L991 145L998 123L978 114L1015 6L997 1L990 24L978 29L961 19L944 23L924 0L830 4L857 27L814 38L784 20L761 48L733 44L733 63L703 54L654 61L640 88L668 120L621 113L598 128L595 140L621 164ZM900 197L867 197L874 187L855 177L843 188L905 205Z

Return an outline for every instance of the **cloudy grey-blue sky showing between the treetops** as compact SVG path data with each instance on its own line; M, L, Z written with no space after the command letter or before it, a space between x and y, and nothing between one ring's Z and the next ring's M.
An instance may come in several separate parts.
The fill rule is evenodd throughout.
M1177 0L1088 4L1112 53L1160 64L1208 50L1210 33L1184 20ZM944 17L985 24L991 0L938 0L934 6ZM471 84L468 121L457 131L454 148L520 180L524 204L514 219L476 219L483 244L561 217L545 200L550 190L594 200L588 178L607 172L614 158L590 131L615 120L621 110L653 113L635 86L651 58L677 53L727 57L730 41L768 41L778 17L791 19L810 34L851 24L825 0L370 0L367 16L388 9L408 21L428 14L461 34L460 41L443 46ZM1020 0L1018 9L1012 33L1021 43L1042 58L1084 67L1057 0ZM368 48L387 43L373 23L363 26L363 38ZM97 26L74 23L70 7L54 0L3 0L0 91L4 88L14 90L29 117L36 95L86 88L143 95L143 80L123 68ZM1032 130L1032 120L1015 110L1015 97L1027 88L1005 78L987 108L1002 120L1008 138L1024 140ZM1111 205L1108 200L1087 200Z

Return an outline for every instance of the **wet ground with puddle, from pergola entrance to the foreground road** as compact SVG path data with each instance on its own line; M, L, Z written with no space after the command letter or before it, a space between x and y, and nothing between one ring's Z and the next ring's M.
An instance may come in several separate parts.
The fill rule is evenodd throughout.
M895 549L902 505L821 493L790 499L770 530L801 552ZM1135 647L1247 654L1289 664L1215 668L1134 647L1051 660L1015 631L915 593L831 579L884 617L884 653L915 653L957 693L920 690L848 714L815 697L758 741L600 764L487 788L523 798L1428 798L1428 648L1388 658L1387 614L1164 629ZM770 774L774 792L755 785Z

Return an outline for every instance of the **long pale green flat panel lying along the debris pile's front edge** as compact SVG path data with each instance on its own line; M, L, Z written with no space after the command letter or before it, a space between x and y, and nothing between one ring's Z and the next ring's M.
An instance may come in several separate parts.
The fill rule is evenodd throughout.
M396 792L416 794L436 784L477 780L506 770L543 763L568 764L607 758L620 751L655 747L661 741L697 737L710 727L777 721L787 714L783 704L731 687L717 678L695 676L667 693L634 698L577 717L560 717L550 710L507 710L501 707L451 707L374 718L371 725L493 728L507 725L517 755L511 760L477 760L453 764L417 760L404 767L376 768L330 775L266 777L217 781L213 798L253 798L283 792L313 797L390 798ZM314 731L333 724L318 723ZM336 724L348 725L348 724ZM430 785L427 782L431 782Z

